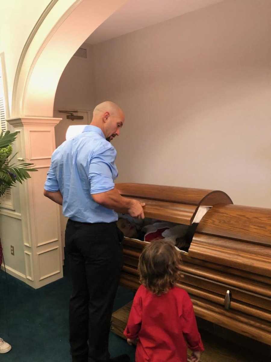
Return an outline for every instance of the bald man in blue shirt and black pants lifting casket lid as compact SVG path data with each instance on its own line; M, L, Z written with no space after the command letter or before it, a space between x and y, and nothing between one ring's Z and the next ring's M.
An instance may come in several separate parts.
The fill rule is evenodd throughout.
M108 336L113 301L122 268L123 234L117 212L144 218L137 200L115 188L116 150L124 113L113 102L95 107L89 126L65 141L52 155L44 196L63 205L68 222L65 246L72 276L69 325L73 362L128 362L110 358Z

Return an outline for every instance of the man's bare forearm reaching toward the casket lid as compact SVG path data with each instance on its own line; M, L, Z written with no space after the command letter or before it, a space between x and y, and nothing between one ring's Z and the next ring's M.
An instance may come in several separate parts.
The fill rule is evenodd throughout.
M91 196L95 202L107 207L107 209L112 209L124 214L128 213L128 210L132 207L134 202L133 199L121 196L116 188L100 194L93 194Z

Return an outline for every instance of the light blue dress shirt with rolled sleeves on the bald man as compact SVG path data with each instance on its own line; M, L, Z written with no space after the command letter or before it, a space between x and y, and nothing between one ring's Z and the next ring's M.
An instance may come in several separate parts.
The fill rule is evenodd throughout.
M116 155L115 147L106 140L102 130L91 125L57 147L44 189L60 190L64 216L85 223L110 223L118 219L115 211L99 205L91 197L115 187Z

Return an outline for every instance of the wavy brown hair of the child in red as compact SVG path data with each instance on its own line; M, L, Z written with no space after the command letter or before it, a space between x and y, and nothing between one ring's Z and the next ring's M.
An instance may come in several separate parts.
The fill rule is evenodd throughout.
M139 281L153 294L167 293L181 277L181 253L167 241L155 240L139 257Z

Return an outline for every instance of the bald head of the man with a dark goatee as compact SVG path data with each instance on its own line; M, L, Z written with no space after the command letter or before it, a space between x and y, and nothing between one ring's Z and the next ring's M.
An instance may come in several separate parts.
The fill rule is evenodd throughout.
M124 120L122 109L116 103L106 101L94 108L91 125L99 127L110 142L115 136L119 136Z

